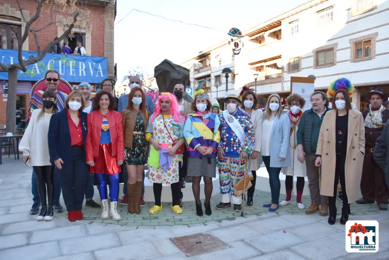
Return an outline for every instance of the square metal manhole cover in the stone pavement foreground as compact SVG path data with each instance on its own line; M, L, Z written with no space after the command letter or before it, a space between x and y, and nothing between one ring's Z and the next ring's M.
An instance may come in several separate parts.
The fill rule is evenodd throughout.
M182 237L170 238L186 256L218 251L229 248L229 245L214 237L209 232L197 233Z

